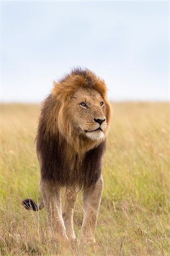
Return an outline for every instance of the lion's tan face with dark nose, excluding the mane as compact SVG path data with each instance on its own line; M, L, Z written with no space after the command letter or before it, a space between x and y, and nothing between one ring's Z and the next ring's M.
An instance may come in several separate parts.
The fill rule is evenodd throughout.
M70 99L74 129L79 134L98 141L107 133L107 117L104 98L94 89L79 88Z

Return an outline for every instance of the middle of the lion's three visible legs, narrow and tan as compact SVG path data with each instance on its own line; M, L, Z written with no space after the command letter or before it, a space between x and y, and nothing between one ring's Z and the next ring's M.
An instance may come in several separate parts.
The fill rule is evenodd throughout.
M73 226L73 214L74 205L78 191L74 188L65 188L64 191L64 204L63 204L63 220L65 222L66 234L70 240L75 240L74 226Z

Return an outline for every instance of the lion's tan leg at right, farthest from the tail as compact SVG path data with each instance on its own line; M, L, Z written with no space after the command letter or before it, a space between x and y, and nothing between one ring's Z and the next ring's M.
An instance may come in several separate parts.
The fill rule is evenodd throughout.
M83 224L81 232L82 242L95 242L95 230L99 213L101 195L103 191L103 177L95 185L83 191Z

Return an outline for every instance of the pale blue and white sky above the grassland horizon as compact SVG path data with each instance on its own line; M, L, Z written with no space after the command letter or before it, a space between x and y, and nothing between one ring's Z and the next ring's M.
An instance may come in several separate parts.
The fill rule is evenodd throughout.
M168 1L2 1L1 101L40 102L74 67L113 101L168 101Z

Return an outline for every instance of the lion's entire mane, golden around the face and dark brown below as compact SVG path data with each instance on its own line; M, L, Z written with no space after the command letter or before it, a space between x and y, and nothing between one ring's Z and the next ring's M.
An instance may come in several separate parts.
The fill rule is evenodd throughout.
M111 107L107 101L107 88L88 69L74 69L59 82L54 82L52 93L42 104L37 131L37 154L41 179L63 185L89 187L99 179L104 141L91 141L74 129L68 103L80 87L95 89L104 98L107 124L111 120ZM75 113L76 114L76 113Z

